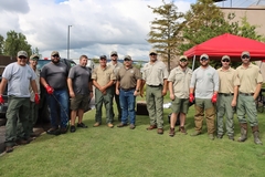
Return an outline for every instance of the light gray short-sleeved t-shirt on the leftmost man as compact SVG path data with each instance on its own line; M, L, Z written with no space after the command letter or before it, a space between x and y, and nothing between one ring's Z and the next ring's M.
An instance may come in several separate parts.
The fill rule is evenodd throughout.
M8 80L8 95L30 97L29 85L36 75L28 64L22 66L15 62L7 65L2 77Z

